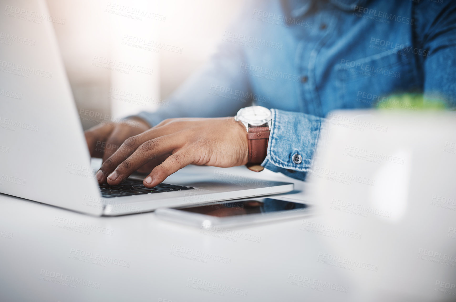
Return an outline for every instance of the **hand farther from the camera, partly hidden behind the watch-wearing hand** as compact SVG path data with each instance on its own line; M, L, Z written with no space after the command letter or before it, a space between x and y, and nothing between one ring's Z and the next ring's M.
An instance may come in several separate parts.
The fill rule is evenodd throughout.
M125 139L142 133L150 126L140 118L131 118L122 123L99 124L84 132L91 157L108 159Z

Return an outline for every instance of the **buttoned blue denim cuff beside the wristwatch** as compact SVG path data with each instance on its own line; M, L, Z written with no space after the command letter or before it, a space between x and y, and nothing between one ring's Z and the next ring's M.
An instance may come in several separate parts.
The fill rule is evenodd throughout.
M268 152L261 164L274 172L304 180L311 167L323 118L300 112L272 109ZM293 161L300 155L301 163Z

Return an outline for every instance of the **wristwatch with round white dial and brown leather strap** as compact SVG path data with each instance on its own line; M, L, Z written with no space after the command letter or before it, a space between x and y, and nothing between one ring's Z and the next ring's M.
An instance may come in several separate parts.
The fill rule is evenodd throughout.
M249 144L248 164L261 164L266 158L269 133L271 132L271 111L262 106L250 106L239 109L235 121L244 124Z

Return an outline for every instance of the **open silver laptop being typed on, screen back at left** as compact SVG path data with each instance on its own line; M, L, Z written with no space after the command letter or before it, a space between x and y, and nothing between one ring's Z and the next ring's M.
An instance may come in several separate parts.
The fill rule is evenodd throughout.
M99 186L55 20L44 0L14 1L0 18L0 193L91 215L124 215L293 190L285 182L227 182L204 169L153 189L137 175Z

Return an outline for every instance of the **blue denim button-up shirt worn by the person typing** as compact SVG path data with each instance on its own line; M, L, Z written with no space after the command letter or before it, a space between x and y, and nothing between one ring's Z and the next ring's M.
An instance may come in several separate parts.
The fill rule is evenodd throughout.
M252 103L268 107L272 127L262 165L304 179L322 119L333 109L388 104L389 95L404 92L455 107L455 2L249 2L168 107L139 117L156 125L165 118L234 116Z

